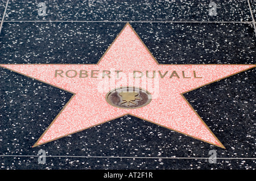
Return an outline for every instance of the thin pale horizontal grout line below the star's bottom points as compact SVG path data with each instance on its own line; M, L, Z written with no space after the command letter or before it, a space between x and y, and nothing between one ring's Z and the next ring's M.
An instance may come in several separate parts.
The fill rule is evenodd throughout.
M209 159L209 157L93 157L93 156L64 156L64 155L0 155L0 157L57 157L57 158L137 158L137 159ZM256 158L214 158L214 159L256 159Z

